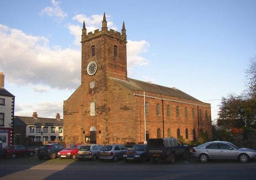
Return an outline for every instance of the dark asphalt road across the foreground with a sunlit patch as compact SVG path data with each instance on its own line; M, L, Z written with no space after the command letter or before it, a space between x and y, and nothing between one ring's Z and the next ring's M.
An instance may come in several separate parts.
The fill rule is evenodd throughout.
M256 179L256 160L249 163L236 160L200 163L190 158L178 159L175 164L154 164L20 157L0 159L0 179Z

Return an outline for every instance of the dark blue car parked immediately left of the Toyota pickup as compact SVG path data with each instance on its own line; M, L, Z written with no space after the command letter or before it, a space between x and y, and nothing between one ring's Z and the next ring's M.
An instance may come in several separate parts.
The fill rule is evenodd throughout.
M129 161L140 161L146 162L148 160L148 156L146 155L147 145L134 145L130 151L127 151L123 158L126 162Z

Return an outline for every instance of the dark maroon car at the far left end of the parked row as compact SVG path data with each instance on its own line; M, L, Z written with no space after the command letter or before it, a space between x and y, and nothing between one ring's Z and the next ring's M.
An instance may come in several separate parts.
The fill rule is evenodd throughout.
M13 145L13 146L6 146L3 148L2 157L22 157L22 156L34 156L35 151L33 149L28 149L22 145Z

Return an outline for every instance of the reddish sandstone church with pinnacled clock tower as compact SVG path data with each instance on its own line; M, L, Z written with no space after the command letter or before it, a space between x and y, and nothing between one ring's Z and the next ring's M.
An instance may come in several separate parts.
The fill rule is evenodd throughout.
M197 139L211 131L210 104L178 90L127 77L126 29L82 29L81 85L64 101L66 143Z

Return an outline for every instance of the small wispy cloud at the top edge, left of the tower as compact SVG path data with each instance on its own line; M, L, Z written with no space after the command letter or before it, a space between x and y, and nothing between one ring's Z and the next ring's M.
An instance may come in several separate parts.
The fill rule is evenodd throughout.
M47 14L48 16L55 17L59 20L64 19L66 16L68 16L68 14L62 10L59 4L59 1L52 0L52 7L45 7L41 10L40 14Z

